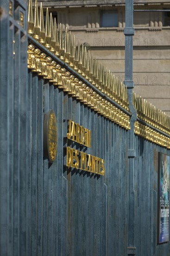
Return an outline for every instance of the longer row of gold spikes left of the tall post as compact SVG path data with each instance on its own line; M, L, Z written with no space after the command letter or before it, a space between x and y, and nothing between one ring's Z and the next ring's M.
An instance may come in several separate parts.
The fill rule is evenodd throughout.
M40 15L39 15L40 13ZM96 60L86 47L77 42L75 36L71 37L71 32L65 29L62 31L60 23L59 32L57 31L56 19L52 18L49 10L46 8L46 19L44 28L44 13L42 3L38 13L38 3L35 0L34 18L32 10L32 0L29 0L28 12L28 33L44 45L53 54L74 68L76 72L86 78L94 87L98 88L103 94L116 101L125 109L128 109L127 90L118 78Z

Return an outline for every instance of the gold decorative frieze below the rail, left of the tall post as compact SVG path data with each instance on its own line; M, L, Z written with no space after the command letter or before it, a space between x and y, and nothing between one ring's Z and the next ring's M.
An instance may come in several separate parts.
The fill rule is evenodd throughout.
M65 68L62 68L49 56L46 56L33 45L28 46L28 68L48 79L54 86L76 97L84 105L94 109L97 113L114 121L121 127L130 129L130 116L117 106L102 98L92 88L79 81Z

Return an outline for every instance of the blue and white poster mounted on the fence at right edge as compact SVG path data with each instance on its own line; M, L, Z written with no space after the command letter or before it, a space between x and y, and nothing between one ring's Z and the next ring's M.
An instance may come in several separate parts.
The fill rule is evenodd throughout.
M157 243L169 241L170 156L158 153Z

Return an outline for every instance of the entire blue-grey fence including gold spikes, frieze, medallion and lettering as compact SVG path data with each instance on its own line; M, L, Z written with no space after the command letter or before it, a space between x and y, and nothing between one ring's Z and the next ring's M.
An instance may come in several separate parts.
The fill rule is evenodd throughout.
M46 13L44 27L42 6L0 2L0 255L170 255L170 117L133 93L130 107L126 83Z

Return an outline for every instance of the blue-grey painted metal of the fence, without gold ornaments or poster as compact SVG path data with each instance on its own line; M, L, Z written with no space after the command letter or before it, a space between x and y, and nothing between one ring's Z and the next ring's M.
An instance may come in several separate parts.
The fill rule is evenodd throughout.
M124 256L129 235L134 236L136 255L169 255L169 242L157 244L157 157L158 152L170 155L170 150L135 135L135 172L130 177L130 130L121 120L110 120L107 112L98 113L27 68L27 42L52 55L33 37L27 39L26 13L22 1L1 5L0 255ZM52 164L43 156L44 113L49 109L57 117ZM119 109L131 116L128 109ZM68 120L91 131L90 148L67 139ZM105 175L67 168L66 147L104 159ZM134 186L129 187L132 178Z

